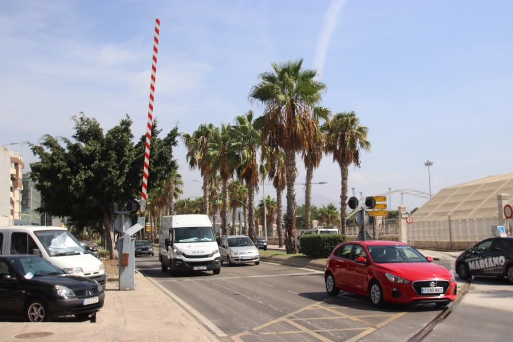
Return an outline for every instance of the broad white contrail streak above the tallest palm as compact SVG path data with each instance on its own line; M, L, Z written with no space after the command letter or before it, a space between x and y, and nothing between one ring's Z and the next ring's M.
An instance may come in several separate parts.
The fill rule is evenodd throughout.
M344 4L345 0L331 0L328 10L324 15L324 24L321 34L319 34L319 38L317 39L317 47L315 48L315 57L313 59L313 66L317 69L319 78L322 77L329 42L337 26L337 17Z

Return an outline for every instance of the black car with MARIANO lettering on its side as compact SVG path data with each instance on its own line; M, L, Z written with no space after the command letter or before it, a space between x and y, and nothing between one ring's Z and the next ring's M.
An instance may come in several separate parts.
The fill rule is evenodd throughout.
M456 259L461 279L472 275L507 277L513 283L513 237L492 237L463 252Z

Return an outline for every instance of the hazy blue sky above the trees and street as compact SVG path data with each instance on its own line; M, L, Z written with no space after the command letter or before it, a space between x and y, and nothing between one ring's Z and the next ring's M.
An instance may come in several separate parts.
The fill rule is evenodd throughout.
M511 13L508 1L4 0L0 145L69 137L80 111L105 130L128 113L134 134L144 134L158 17L154 114L165 130L260 114L247 99L258 74L302 57L306 68L321 69L323 105L354 110L369 127L372 151L361 169L350 168L349 187L364 195L427 192L429 159L436 193L512 171ZM11 148L34 160L26 146ZM184 148L175 155L185 194L200 195ZM298 166L303 182L299 158ZM313 187L317 204L338 202L340 171L330 156L313 180L328 182ZM301 203L303 189L296 190ZM404 196L409 209L424 202ZM392 207L399 204L393 195Z

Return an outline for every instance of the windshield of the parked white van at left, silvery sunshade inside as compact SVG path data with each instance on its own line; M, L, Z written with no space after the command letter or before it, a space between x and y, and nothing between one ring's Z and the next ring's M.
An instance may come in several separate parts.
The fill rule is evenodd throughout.
M67 230L40 230L34 234L50 256L85 253L78 240Z

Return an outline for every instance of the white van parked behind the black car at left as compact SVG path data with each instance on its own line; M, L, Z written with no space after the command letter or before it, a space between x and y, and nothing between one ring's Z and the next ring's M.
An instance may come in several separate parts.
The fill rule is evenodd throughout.
M102 261L86 253L66 228L0 227L0 254L41 255L64 272L94 279L105 289L107 276Z

